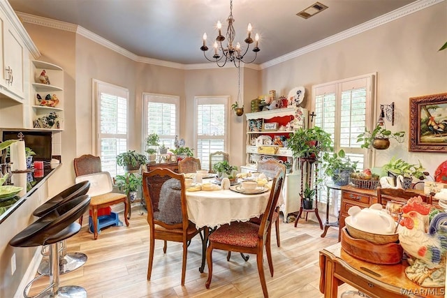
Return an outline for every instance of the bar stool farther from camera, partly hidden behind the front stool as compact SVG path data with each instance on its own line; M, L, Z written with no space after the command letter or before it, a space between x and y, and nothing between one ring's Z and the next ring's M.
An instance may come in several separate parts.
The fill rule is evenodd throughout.
M87 194L90 188L89 181L82 181L78 184L75 184L65 191L61 191L47 202L41 204L36 210L34 210L33 215L37 217L42 217L48 212L57 208L60 204L64 204L64 202L68 202L73 198L77 198L81 195ZM42 251L44 248L42 248ZM47 256L47 254L42 253L42 255ZM78 269L82 265L87 262L87 255L85 253L67 253L66 251L66 241L62 241L61 244L61 253L59 260L59 274L66 274L70 271ZM42 260L41 265L39 265L38 274L50 274L50 260Z

